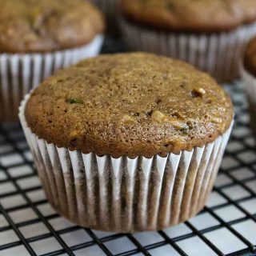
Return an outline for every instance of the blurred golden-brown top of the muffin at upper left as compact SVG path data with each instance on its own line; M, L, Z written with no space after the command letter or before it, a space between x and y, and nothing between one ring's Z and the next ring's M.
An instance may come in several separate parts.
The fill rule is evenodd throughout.
M1 53L82 46L104 30L102 14L83 0L0 0Z

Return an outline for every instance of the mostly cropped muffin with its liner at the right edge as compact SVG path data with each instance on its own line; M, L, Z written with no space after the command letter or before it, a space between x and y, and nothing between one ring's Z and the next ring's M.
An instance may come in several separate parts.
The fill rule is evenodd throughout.
M250 40L246 47L241 74L249 103L250 123L256 135L256 38Z

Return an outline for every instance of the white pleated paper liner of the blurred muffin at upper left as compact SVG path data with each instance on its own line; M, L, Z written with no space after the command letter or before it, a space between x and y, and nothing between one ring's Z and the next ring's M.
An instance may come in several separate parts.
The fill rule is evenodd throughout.
M18 121L18 106L31 88L56 70L98 55L103 36L86 46L46 54L0 54L0 122Z

